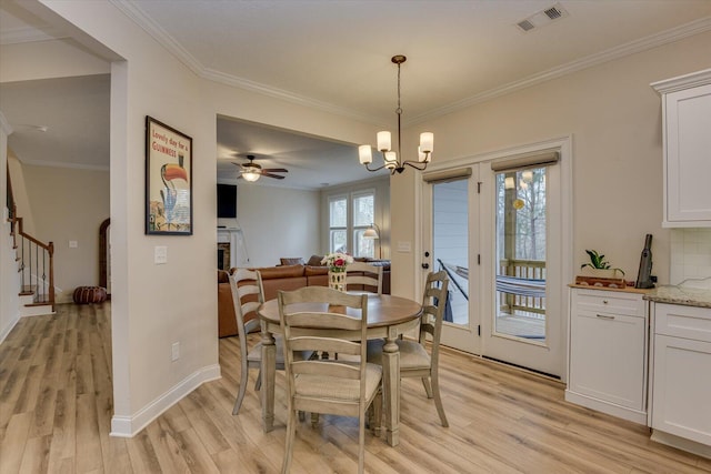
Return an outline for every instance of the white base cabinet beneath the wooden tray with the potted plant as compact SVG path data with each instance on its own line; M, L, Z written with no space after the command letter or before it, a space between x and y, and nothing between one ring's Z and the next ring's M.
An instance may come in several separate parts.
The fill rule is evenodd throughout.
M565 400L647 424L643 292L571 289Z

